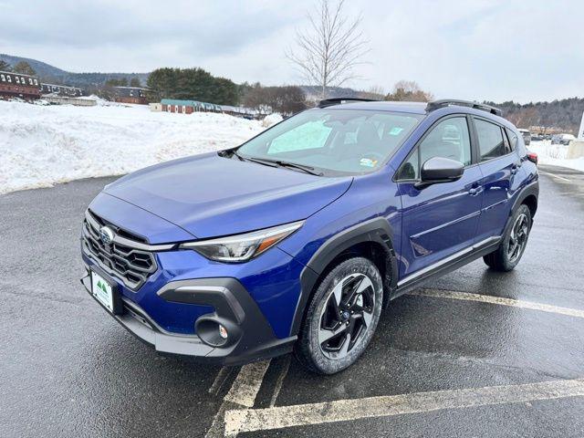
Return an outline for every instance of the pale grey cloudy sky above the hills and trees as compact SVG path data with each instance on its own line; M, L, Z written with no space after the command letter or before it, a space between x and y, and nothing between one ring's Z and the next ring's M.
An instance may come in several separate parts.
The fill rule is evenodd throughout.
M0 0L0 53L70 71L201 67L235 82L302 80L284 56L316 0ZM370 40L362 79L436 98L584 97L584 1L350 1Z

